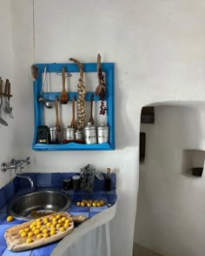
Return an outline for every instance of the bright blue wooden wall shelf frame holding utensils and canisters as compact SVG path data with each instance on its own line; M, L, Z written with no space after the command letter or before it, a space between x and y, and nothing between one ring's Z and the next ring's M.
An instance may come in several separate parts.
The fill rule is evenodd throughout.
M34 114L35 114L35 130L34 139L32 144L32 149L35 151L108 151L115 150L115 102L114 102L114 83L115 83L115 64L114 63L102 63L102 71L105 72L106 79L106 101L107 101L107 125L109 125L109 143L104 144L57 144L57 145L47 145L47 144L37 144L37 127L43 124L43 104L38 103L37 97L39 96L42 89L42 73L44 67L46 66L47 72L62 72L63 66L67 72L79 72L79 68L76 64L36 64L38 68L38 77L34 81ZM83 64L84 72L96 72L96 63ZM85 84L86 86L86 84ZM90 94L94 91L86 92L85 100L89 101ZM60 92L45 92L45 96L50 101L55 101L56 96L60 97ZM43 95L44 96L44 95ZM77 92L69 92L69 100L76 96ZM95 101L99 100L98 97L94 97Z

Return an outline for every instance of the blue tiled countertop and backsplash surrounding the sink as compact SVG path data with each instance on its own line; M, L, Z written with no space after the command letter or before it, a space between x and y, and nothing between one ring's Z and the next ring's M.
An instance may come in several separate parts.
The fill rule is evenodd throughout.
M57 190L64 193L69 193L72 199L72 203L69 206L67 212L69 214L76 216L84 214L86 218L93 218L97 213L102 212L108 208L108 205L103 205L101 207L88 207L88 206L76 206L77 201L82 199L102 199L104 202L114 205L116 203L116 174L111 174L111 191L105 192L103 190L103 181L98 179L95 180L95 187L93 192L83 192L73 190L64 191L63 190L63 179L69 179L75 173L73 172L53 172L53 173L23 173L30 176L34 181L35 188L30 188L30 183L26 179L15 178L8 185L5 185L0 190L0 255L10 256L10 255L21 255L21 256L49 256L55 249L59 241L52 243L47 246L37 247L36 249L30 251L23 251L19 253L10 252L7 248L6 241L3 237L4 232L11 226L16 226L22 224L24 221L19 219L14 219L8 222L7 216L7 204L10 200L17 195L27 194L29 192L35 192L39 190Z

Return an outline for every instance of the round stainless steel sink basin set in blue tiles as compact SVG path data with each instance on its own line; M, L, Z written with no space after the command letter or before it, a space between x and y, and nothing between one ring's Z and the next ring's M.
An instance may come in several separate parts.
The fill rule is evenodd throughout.
M13 199L8 205L8 212L16 219L35 219L36 212L63 212L69 208L71 199L63 192L41 191L31 192Z

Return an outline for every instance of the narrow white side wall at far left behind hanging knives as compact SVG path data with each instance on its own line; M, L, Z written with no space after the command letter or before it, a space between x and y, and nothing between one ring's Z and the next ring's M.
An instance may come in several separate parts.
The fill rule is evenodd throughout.
M5 82L6 78L10 79L11 93L14 98L10 99L11 106L14 107L14 116L17 110L17 88L13 86L15 84L14 79L14 55L12 47L12 30L11 30L11 15L10 15L10 1L0 1L0 77ZM3 84L4 90L4 84ZM14 143L16 140L15 135L15 120L11 119L9 115L4 111L4 99L3 99L3 119L8 123L9 126L0 124L0 165L4 161L10 161L14 155ZM0 173L0 187L8 183L12 179L13 175L11 172Z

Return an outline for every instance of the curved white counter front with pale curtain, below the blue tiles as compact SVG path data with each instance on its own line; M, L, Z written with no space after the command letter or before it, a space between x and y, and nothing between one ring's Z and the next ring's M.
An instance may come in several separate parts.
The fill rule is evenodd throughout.
M75 228L58 243L51 256L110 256L109 221L116 204Z

